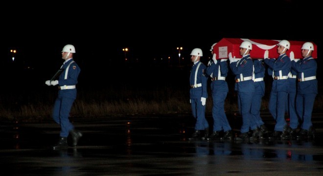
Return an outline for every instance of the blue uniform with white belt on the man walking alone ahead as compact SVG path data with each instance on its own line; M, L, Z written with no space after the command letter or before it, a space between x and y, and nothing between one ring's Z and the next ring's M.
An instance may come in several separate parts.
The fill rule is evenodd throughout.
M69 132L74 129L73 124L69 122L69 112L76 99L77 78L81 71L80 67L69 59L61 67L64 71L58 79L58 97L55 100L53 108L53 119L61 126L61 137L68 137Z

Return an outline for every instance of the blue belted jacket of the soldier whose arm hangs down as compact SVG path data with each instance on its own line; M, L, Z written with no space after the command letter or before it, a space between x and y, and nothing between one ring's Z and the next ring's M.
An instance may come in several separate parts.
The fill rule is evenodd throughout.
M201 61L197 62L192 66L191 73L189 76L189 84L194 85L195 84L195 72L197 69L197 66L199 65ZM196 84L202 84L201 87L198 88L190 88L189 90L189 96L190 98L208 98L208 77L205 73L207 66L205 66L202 62L197 70L197 76L196 76Z

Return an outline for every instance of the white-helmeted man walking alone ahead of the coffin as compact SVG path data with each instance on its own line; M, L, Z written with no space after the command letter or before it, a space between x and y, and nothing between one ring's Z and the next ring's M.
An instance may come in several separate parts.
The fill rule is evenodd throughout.
M46 81L47 86L58 85L58 97L55 100L53 108L53 119L61 126L60 138L58 143L53 149L69 147L67 137L69 133L72 136L72 146L76 146L82 133L75 130L72 123L69 122L69 112L76 99L76 84L77 78L80 74L80 67L73 61L73 54L75 48L71 44L67 44L62 50L62 59L65 60L61 69L62 73L59 75L58 80Z

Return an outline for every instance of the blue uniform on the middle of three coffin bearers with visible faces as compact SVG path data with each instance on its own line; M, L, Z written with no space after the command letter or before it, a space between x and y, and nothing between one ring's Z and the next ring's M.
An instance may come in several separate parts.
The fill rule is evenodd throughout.
M276 120L275 131L282 132L287 122L285 120L285 101L288 97L288 74L291 70L291 60L286 53L276 60L266 58L265 63L273 70L273 84L270 92L269 111Z

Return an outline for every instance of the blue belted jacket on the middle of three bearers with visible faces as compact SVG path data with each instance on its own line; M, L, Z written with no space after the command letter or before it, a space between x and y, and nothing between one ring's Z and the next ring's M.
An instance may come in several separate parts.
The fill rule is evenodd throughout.
M265 59L265 63L274 70L273 76L288 76L290 70L291 70L291 60L286 55L286 53L281 54L278 59ZM281 75L279 75L279 72L281 70ZM278 92L278 91L285 91L288 92L289 89L289 83L287 79L277 79L273 81L272 85L272 91Z

